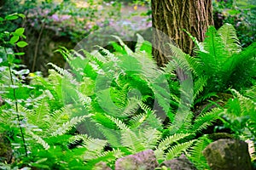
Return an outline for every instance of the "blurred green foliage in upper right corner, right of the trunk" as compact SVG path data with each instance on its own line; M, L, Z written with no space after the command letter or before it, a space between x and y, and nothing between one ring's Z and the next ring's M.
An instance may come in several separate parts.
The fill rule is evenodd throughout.
M230 23L236 28L241 47L245 48L255 41L255 5L252 0L212 1L214 25L219 28Z

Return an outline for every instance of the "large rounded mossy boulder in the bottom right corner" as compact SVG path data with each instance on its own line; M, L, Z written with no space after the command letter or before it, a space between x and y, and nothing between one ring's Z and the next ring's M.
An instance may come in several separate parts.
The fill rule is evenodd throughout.
M212 170L252 169L248 145L241 140L218 139L203 150L203 155Z

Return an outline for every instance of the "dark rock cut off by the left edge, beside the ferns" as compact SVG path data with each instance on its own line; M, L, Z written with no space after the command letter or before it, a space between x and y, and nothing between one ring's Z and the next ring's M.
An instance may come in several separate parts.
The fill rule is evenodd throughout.
M12 159L12 148L9 142L3 134L0 134L0 162L10 162Z

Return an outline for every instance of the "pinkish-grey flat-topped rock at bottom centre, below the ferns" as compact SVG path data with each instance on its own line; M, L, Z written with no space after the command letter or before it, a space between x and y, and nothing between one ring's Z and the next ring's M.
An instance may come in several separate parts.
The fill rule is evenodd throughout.
M153 150L144 150L131 156L125 156L115 161L115 170L152 170L158 167Z

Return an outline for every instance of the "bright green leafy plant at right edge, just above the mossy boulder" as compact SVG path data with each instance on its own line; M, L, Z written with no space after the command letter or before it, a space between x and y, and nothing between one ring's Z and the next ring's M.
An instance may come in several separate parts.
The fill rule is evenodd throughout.
M255 86L249 88L245 94L231 89L234 99L230 99L220 113L224 127L229 127L237 137L254 139L255 132Z

